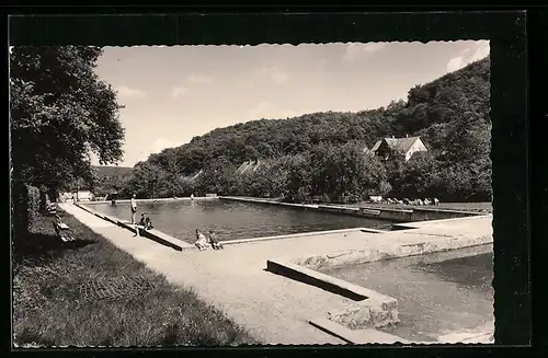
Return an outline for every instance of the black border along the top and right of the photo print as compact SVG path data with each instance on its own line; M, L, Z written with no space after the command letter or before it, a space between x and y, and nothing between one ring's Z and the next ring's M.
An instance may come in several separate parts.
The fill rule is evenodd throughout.
M57 9L60 10L60 9ZM67 10L67 9L65 9ZM73 9L72 9L73 10ZM94 9L89 12L98 12ZM103 9L104 10L104 9ZM496 345L527 346L532 342L529 142L526 20L523 11L430 13L185 13L162 15L65 14L11 16L13 46L83 44L134 45L258 45L332 42L408 42L489 39L491 45L491 117L493 118L493 232L495 236ZM24 11L28 12L28 11ZM39 11L38 11L39 12ZM53 13L52 9L44 12ZM72 11L72 13L81 10ZM136 11L134 11L135 13ZM105 11L103 11L105 13ZM78 30L78 31L75 31ZM525 175L523 175L525 174ZM10 293L11 295L11 293ZM11 320L10 320L11 321ZM468 354L498 350L495 346L467 346ZM461 347L461 346L460 346ZM273 349L274 348L274 349ZM433 355L453 355L457 346L415 346ZM185 348L204 351L202 348ZM216 348L247 355L275 356L290 347ZM297 354L350 353L364 347L296 346ZM401 347L383 346L376 353L392 356ZM42 349L41 349L42 350ZM80 350L80 349L78 349ZM95 349L85 349L96 355ZM149 354L134 348L132 354ZM156 350L156 349L153 349ZM170 350L173 349L162 349ZM47 351L47 353L46 353ZM47 349L45 354L53 354ZM102 349L123 354L126 349ZM78 354L87 354L78 351Z

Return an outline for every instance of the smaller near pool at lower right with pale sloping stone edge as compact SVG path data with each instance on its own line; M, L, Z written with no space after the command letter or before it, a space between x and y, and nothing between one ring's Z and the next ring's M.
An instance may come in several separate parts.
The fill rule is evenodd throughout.
M492 245L482 245L322 273L396 298L400 323L383 331L435 342L494 324L492 259Z

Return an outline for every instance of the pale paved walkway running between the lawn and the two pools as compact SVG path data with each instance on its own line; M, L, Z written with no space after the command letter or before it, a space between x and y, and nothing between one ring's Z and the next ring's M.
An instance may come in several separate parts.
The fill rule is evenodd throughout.
M174 251L109 223L73 205L60 207L117 247L163 274L169 281L194 288L198 296L224 310L265 344L344 344L308 324L328 311L341 311L353 301L264 270L267 258L307 257L439 241L447 238L492 235L491 218L418 224L411 231L350 232L322 236L260 241L227 245L224 251Z

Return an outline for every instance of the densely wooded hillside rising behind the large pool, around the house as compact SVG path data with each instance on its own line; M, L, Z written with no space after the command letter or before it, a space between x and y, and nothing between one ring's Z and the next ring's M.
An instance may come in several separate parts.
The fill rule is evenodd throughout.
M249 186L242 186L246 180L228 177L232 174L227 173L232 173L243 161L270 159L276 165L300 163L298 171L304 172L293 178L296 182L277 184L278 194L296 200L297 196L298 200L307 200L312 195L330 199L343 195L359 199L369 193L489 200L489 111L488 57L430 83L416 85L409 91L407 101L391 102L386 107L358 113L312 113L279 120L260 119L215 129L193 138L190 143L165 149L138 163L127 189L139 196L151 196L152 192L156 196L185 195L189 190L256 195ZM356 157L365 146L370 148L383 137L406 135L421 136L431 151L408 163L377 163L375 158ZM345 159L339 158L338 152L346 155ZM313 158L323 162L312 165L309 160ZM324 162L328 158L329 162ZM347 165L352 160L366 161L354 163L354 166L370 169L375 173L364 174L363 181L356 182L356 174L343 169L340 169L342 172L329 172L338 160ZM302 166L302 163L312 166ZM296 174L289 166L282 172ZM196 183L180 180L181 175L198 170L204 170L203 176L207 181L199 177ZM272 173L265 171L263 166L259 172L272 177ZM338 177L335 181L333 175L347 175L349 180ZM345 184L338 184L341 181ZM258 182L259 177L249 178L254 185ZM351 182L352 185L347 184ZM271 195L273 192L267 185L260 190ZM300 194L296 195L297 192Z

